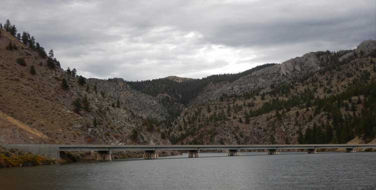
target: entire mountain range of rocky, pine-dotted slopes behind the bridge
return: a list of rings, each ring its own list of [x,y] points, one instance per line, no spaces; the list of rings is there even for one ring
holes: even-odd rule
[[[77,76],[0,31],[0,143],[346,143],[376,134],[375,40],[234,74],[126,81]]]

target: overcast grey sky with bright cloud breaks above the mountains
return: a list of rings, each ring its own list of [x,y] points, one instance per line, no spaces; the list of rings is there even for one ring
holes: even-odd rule
[[[85,77],[204,77],[376,38],[375,0],[2,0]]]

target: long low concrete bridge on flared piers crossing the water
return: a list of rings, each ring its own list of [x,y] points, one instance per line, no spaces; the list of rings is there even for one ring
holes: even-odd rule
[[[188,151],[188,157],[200,157],[200,150],[227,150],[229,156],[240,155],[241,150],[267,150],[269,155],[285,149],[304,149],[316,153],[320,149],[343,148],[355,152],[356,148],[376,148],[376,144],[234,144],[234,145],[105,145],[105,144],[0,144],[6,148],[60,158],[60,151],[97,151],[97,160],[111,160],[111,151],[144,151],[143,159],[157,159],[158,151]]]

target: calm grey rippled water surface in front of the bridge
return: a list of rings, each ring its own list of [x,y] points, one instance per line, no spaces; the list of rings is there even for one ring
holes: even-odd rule
[[[0,189],[376,189],[376,152],[201,153],[0,169]]]

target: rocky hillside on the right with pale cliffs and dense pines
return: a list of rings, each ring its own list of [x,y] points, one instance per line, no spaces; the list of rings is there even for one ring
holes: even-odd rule
[[[375,137],[375,47],[319,51],[208,85],[172,124],[176,143],[346,143]]]

